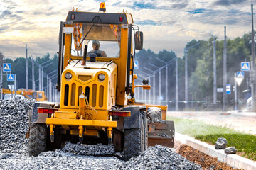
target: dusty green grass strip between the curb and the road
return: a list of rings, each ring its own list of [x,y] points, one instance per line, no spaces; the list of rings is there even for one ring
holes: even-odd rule
[[[218,137],[228,140],[227,147],[235,147],[238,154],[256,161],[256,135],[245,134],[228,127],[207,125],[200,120],[168,117],[173,120],[176,132],[195,137],[198,140],[215,145]]]

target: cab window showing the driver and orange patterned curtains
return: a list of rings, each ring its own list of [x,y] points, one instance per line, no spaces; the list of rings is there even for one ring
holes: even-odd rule
[[[88,45],[87,56],[95,53],[96,57],[119,57],[120,25],[74,23],[73,26],[71,55],[82,56],[85,45]],[[83,39],[84,41],[82,41]]]

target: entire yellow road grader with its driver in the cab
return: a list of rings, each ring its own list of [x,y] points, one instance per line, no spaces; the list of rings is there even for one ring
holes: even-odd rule
[[[64,147],[67,141],[114,145],[125,159],[141,154],[148,144],[173,147],[173,123],[152,123],[146,113],[151,106],[134,99],[134,87],[139,87],[134,86],[135,50],[142,50],[142,44],[132,14],[106,13],[105,3],[96,13],[68,12],[59,34],[60,103],[35,103],[29,155]],[[166,106],[159,108],[166,118]]]

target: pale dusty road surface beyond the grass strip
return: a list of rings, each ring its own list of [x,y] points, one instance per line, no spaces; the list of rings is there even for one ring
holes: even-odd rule
[[[169,111],[167,116],[202,120],[209,125],[220,125],[256,135],[256,113],[238,111]]]

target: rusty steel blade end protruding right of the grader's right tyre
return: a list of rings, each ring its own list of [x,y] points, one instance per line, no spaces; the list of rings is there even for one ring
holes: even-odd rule
[[[174,147],[174,121],[166,123],[150,123],[149,127],[149,146],[163,145]]]

